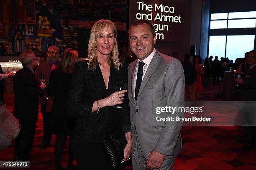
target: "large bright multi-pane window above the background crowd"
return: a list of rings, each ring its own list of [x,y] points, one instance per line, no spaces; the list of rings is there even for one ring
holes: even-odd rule
[[[208,56],[235,61],[256,44],[256,11],[212,13],[210,15]]]

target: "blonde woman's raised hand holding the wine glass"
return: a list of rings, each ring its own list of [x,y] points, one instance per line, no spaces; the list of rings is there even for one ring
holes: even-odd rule
[[[106,107],[106,106],[115,106],[117,104],[122,104],[126,92],[127,90],[121,90],[121,91],[116,91],[112,93],[110,96],[104,99],[103,106]]]

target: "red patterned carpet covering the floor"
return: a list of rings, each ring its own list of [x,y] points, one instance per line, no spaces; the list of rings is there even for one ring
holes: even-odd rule
[[[205,86],[200,93],[200,100],[223,100],[216,98],[223,86]],[[13,111],[13,95],[5,95],[8,109]],[[256,170],[256,150],[243,150],[243,145],[234,142],[241,136],[241,128],[234,126],[182,127],[183,150],[174,165],[174,170]],[[32,149],[32,158],[39,163],[31,166],[31,170],[54,169],[54,142],[51,147],[39,150],[43,136],[41,113],[36,127],[36,136]],[[13,160],[14,143],[0,152],[0,161]],[[90,154],[90,153],[88,153]],[[64,150],[61,165],[67,166],[67,149]],[[131,161],[127,162],[126,170],[132,170]],[[4,169],[4,168],[3,168]],[[6,168],[10,170],[11,168]],[[13,168],[17,170],[18,168]],[[25,169],[25,168],[22,168]]]

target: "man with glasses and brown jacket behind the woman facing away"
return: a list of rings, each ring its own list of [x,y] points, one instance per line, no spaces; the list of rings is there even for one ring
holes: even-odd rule
[[[36,72],[36,80],[38,84],[40,84],[40,79],[44,79],[46,85],[49,83],[49,77],[51,71],[55,69],[60,61],[59,61],[59,48],[57,46],[50,46],[47,51],[47,56],[49,57],[48,62],[40,63]],[[49,147],[51,144],[51,112],[46,112],[46,104],[47,104],[47,89],[44,90],[43,94],[40,96],[41,103],[41,113],[43,116],[43,129],[44,129],[44,137],[42,144],[39,146],[40,150],[44,150],[46,147]]]

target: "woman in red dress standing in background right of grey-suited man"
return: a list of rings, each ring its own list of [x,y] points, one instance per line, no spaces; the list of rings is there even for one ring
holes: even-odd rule
[[[200,56],[196,55],[193,58],[193,63],[195,64],[196,71],[197,71],[197,81],[196,81],[197,97],[196,97],[196,99],[198,100],[199,92],[202,91],[201,75],[204,74],[204,69],[203,69],[203,66],[202,66],[202,59],[201,59]]]

